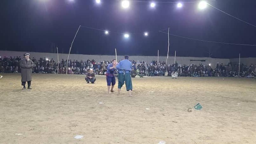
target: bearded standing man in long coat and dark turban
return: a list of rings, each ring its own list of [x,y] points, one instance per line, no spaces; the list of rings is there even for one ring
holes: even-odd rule
[[[32,68],[34,67],[34,62],[30,60],[30,54],[26,53],[24,54],[24,57],[20,61],[20,67],[21,67],[21,85],[23,85],[22,89],[26,89],[25,84],[28,82],[28,89],[30,88],[31,85],[31,80],[32,80]]]

